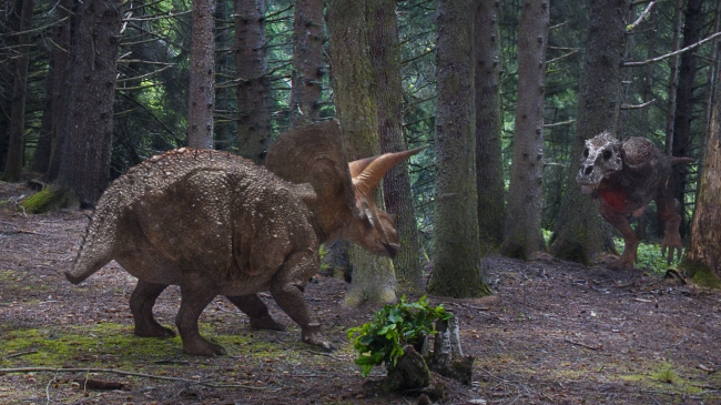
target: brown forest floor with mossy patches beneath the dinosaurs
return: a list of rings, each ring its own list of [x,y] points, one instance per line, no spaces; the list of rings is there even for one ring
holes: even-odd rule
[[[16,212],[30,192],[0,183],[0,404],[418,403],[382,395],[382,367],[360,376],[346,331],[377,306],[344,307],[346,284],[332,277],[305,292],[338,347],[332,354],[301,343],[268,294],[288,332],[252,331],[221,297],[205,310],[201,332],[226,356],[183,355],[179,337],[135,337],[135,281],[116,263],[77,286],[62,275],[88,212]],[[491,297],[429,297],[458,316],[463,350],[476,358],[470,386],[445,381],[444,404],[721,404],[720,292],[548,256],[490,256],[483,266]],[[174,327],[179,303],[175,287],[160,296],[161,323]]]

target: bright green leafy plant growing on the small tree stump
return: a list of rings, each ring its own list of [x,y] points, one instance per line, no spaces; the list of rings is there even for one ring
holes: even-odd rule
[[[430,307],[426,296],[409,303],[406,296],[394,305],[385,305],[373,314],[373,322],[348,330],[348,341],[358,351],[355,363],[363,368],[366,377],[373,366],[386,364],[393,368],[403,356],[403,346],[418,345],[428,334],[435,333],[436,320],[447,321],[453,315],[437,305]]]

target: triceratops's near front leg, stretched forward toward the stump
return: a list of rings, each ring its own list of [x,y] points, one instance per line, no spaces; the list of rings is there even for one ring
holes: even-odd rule
[[[332,351],[335,347],[321,335],[321,323],[308,311],[303,297],[308,277],[317,271],[317,253],[312,250],[292,253],[273,276],[271,293],[281,308],[301,325],[303,342]]]

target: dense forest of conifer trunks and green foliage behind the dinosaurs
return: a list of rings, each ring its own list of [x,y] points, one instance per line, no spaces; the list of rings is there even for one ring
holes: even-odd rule
[[[700,244],[681,265],[718,284],[719,231],[702,225],[721,220],[720,13],[710,0],[3,0],[0,168],[92,206],[159,152],[262,163],[277,134],[337,117],[349,159],[430,146],[385,179],[405,253],[352,250],[365,264],[346,300],[395,298],[368,293],[372,270],[402,291],[431,271],[430,292],[475,296],[490,292],[489,252],[617,252],[573,181],[582,141],[610,130],[697,159],[674,174],[681,234]],[[663,232],[653,210],[636,229]]]

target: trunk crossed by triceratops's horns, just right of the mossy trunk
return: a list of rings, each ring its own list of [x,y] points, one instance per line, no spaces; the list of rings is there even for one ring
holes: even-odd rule
[[[380,151],[399,152],[408,149],[403,134],[403,87],[400,83],[400,52],[396,22],[396,1],[376,0],[368,10],[373,22],[370,60],[377,82],[378,135]],[[403,292],[423,290],[420,267],[420,240],[416,227],[416,213],[410,194],[408,165],[403,163],[390,169],[383,178],[383,195],[386,211],[396,215],[400,236],[400,252],[393,264]]]

